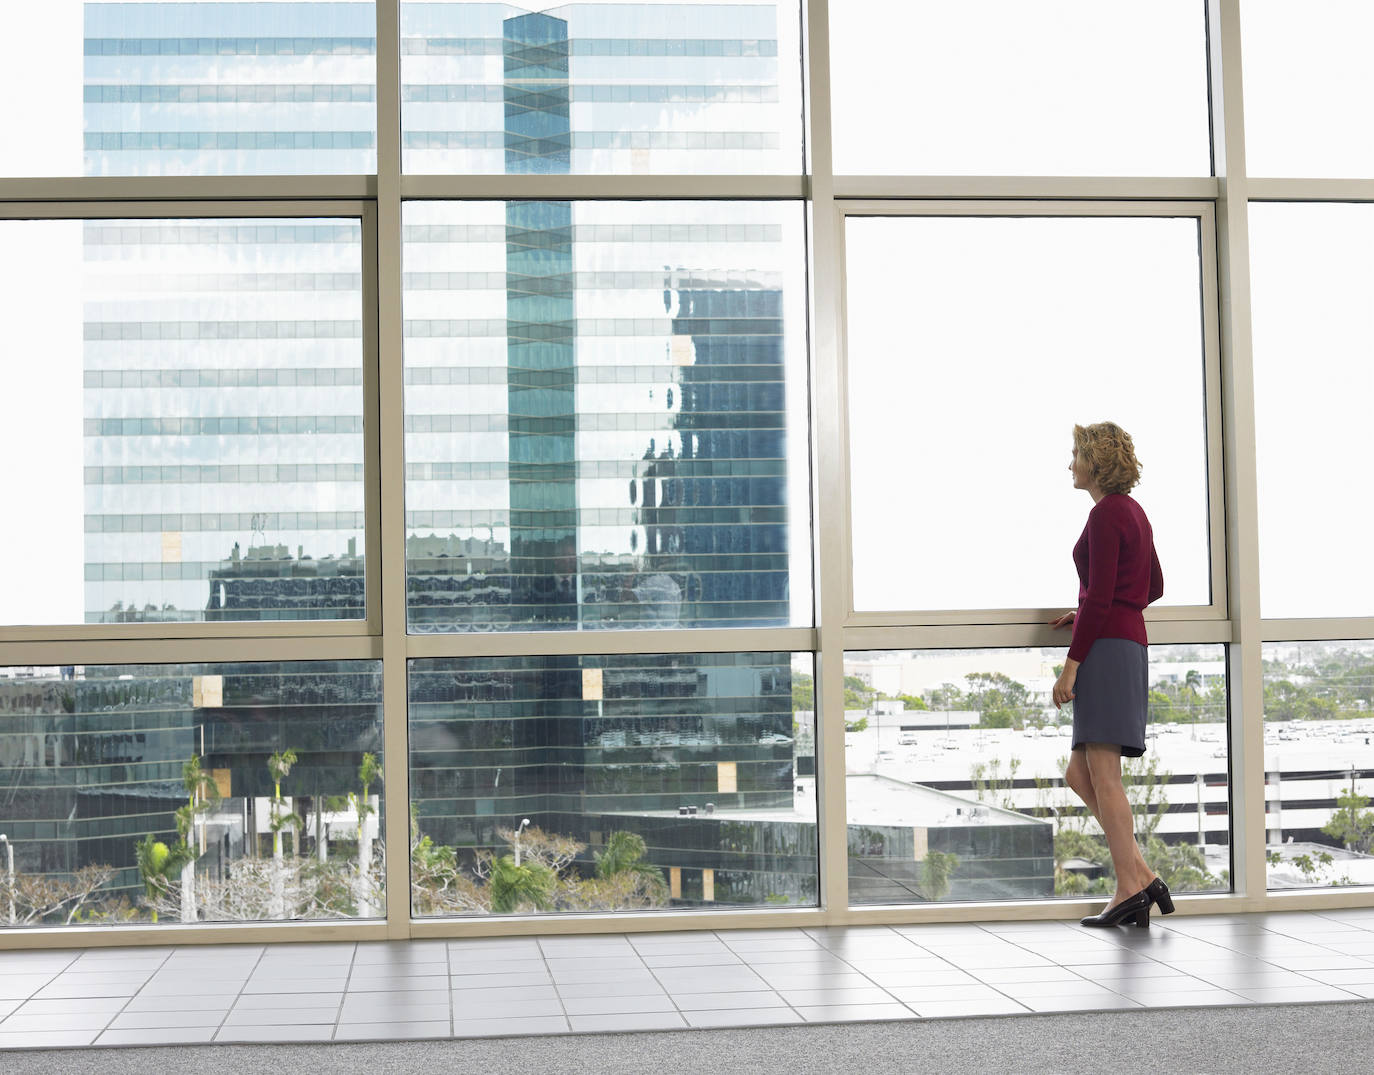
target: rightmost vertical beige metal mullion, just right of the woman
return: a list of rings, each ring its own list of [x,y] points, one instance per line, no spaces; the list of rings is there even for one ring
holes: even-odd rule
[[[1245,175],[1239,0],[1208,0],[1212,129],[1217,198],[1221,423],[1226,434],[1227,590],[1232,641],[1232,883],[1248,902],[1267,891],[1264,839],[1264,683],[1261,678],[1254,360]]]

